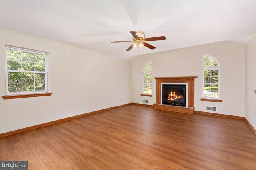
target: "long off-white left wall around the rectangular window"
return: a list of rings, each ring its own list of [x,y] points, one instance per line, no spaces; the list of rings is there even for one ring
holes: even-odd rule
[[[6,44],[49,52],[48,84],[53,94],[0,98],[0,133],[132,102],[131,61],[4,28],[0,28],[1,96]]]

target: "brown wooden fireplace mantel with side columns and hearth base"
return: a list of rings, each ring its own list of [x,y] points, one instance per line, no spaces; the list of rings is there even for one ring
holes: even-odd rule
[[[156,104],[155,109],[162,109],[168,111],[176,111],[182,113],[191,113],[194,114],[194,101],[195,101],[195,78],[197,76],[190,77],[154,77],[156,79]],[[188,83],[188,107],[166,107],[166,105],[161,104],[161,83]],[[168,108],[168,109],[166,109]],[[190,110],[188,110],[190,109]],[[192,109],[192,110],[191,110]]]

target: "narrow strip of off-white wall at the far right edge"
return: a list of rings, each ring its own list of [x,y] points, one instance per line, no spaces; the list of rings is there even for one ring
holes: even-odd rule
[[[245,117],[256,129],[256,35],[245,48]]]

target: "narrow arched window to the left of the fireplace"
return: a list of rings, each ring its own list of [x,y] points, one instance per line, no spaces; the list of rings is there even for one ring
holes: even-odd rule
[[[142,94],[152,94],[151,91],[151,61],[145,64],[142,71]]]

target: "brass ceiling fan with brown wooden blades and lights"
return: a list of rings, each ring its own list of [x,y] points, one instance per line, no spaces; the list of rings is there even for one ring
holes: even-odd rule
[[[145,38],[145,33],[143,31],[130,31],[130,33],[133,36],[132,41],[113,41],[111,43],[124,43],[124,42],[133,42],[133,44],[126,50],[129,51],[132,48],[142,48],[143,46],[148,47],[149,49],[155,49],[156,47],[146,43],[147,41],[157,41],[157,40],[165,40],[166,38],[164,36],[162,37],[151,37],[151,38]]]

